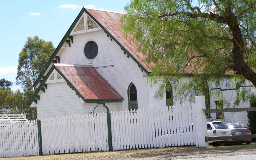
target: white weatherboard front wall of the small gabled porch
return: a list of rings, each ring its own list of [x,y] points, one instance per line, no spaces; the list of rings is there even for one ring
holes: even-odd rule
[[[83,113],[83,104],[66,82],[48,83],[45,93],[40,91],[37,101],[37,118],[48,118]]]

